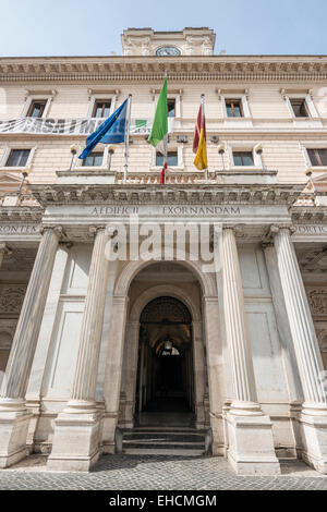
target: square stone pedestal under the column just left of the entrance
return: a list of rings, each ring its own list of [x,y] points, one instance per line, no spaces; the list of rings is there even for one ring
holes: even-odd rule
[[[95,407],[68,407],[55,420],[49,471],[88,472],[100,455],[100,417]]]

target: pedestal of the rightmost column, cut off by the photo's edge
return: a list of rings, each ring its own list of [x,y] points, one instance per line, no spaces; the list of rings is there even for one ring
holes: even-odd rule
[[[327,474],[327,409],[304,404],[300,416],[302,459],[324,475]]]

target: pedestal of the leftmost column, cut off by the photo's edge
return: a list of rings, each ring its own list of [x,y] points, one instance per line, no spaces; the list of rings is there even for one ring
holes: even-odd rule
[[[0,467],[9,467],[28,455],[26,439],[32,414],[22,400],[0,401]]]

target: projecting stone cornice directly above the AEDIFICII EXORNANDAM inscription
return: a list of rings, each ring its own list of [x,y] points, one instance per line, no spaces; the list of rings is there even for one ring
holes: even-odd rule
[[[302,185],[31,185],[43,206],[62,205],[283,205],[292,206]]]

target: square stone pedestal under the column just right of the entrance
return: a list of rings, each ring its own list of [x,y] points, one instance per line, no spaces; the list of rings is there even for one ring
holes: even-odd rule
[[[275,453],[272,424],[269,416],[232,412],[226,415],[228,426],[228,460],[239,475],[279,475]]]

